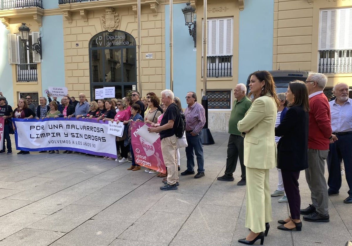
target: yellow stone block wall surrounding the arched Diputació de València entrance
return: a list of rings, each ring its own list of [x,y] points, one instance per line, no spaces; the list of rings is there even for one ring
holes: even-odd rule
[[[99,7],[99,2],[95,4]],[[137,42],[137,15],[132,11],[132,6],[115,8],[115,12],[120,18],[117,29],[130,33]],[[89,11],[88,22],[84,22],[79,12],[73,12],[71,24],[63,16],[65,85],[70,95],[85,93],[90,100],[89,40],[95,34],[105,31],[101,23],[104,13],[104,9]],[[158,6],[157,16],[153,16],[148,5],[142,5],[141,13],[142,95],[149,91],[158,95],[165,89],[165,26],[162,21],[165,18],[164,6]],[[146,53],[153,53],[153,59],[146,60]]]

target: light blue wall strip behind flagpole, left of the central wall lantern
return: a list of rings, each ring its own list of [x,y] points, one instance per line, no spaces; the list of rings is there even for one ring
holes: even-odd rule
[[[185,108],[186,94],[196,91],[196,51],[181,11],[186,4],[174,4],[174,94]],[[165,5],[165,86],[170,89],[170,21],[169,5]],[[200,71],[199,71],[200,72]],[[200,96],[200,95],[199,95]]]

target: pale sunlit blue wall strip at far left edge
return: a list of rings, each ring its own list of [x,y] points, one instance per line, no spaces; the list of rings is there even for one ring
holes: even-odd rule
[[[5,25],[0,23],[0,91],[6,97],[8,104],[12,106],[13,104],[13,89],[12,89],[12,68],[8,64],[8,41],[7,34],[9,31],[6,29]]]

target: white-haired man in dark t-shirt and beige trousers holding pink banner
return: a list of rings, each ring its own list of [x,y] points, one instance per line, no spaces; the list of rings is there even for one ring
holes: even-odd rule
[[[161,92],[161,101],[168,108],[166,109],[163,118],[158,127],[149,127],[149,132],[160,133],[161,151],[165,166],[168,168],[168,178],[164,186],[160,187],[162,191],[177,190],[178,169],[176,155],[176,135],[178,120],[180,118],[180,109],[174,103],[174,93],[168,89]]]

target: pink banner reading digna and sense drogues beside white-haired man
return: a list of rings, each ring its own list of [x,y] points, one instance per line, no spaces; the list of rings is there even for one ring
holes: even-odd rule
[[[145,135],[145,125],[150,127],[149,124],[144,122],[131,121],[131,144],[133,148],[134,160],[136,164],[156,170],[161,173],[166,173],[166,167],[163,160],[163,154],[161,152],[160,136],[155,140],[152,133],[147,133],[147,136],[142,138],[141,135]],[[141,132],[139,135],[138,131],[140,128]],[[144,134],[142,134],[142,131]],[[148,136],[150,134],[150,136]],[[149,139],[147,141],[145,138]],[[154,139],[154,140],[150,140]]]

